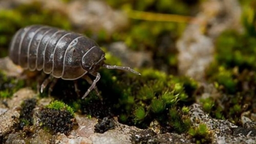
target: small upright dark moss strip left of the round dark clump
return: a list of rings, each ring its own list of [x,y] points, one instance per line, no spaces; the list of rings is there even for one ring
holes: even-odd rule
[[[33,109],[37,105],[37,100],[34,98],[26,99],[21,103],[20,123],[19,128],[33,125]]]

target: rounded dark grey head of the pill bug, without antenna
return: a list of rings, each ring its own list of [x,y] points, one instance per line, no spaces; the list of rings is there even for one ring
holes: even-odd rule
[[[82,57],[81,64],[83,69],[89,73],[96,72],[104,63],[105,53],[100,47],[94,46],[89,49]]]

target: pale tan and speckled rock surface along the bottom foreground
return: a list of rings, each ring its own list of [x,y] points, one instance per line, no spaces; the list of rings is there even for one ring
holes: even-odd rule
[[[35,96],[35,93],[29,89],[24,88],[15,93],[13,100],[6,100],[10,106],[7,111],[0,114],[0,137],[6,138],[6,144],[30,142],[32,144],[193,144],[191,138],[187,135],[180,135],[177,133],[155,133],[151,129],[139,129],[118,123],[116,120],[115,127],[105,133],[95,133],[95,125],[97,119],[88,118],[80,114],[75,114],[78,128],[71,131],[69,135],[57,133],[52,135],[43,129],[33,127],[33,135],[29,138],[22,137],[21,132],[16,132],[16,124],[19,118],[19,103],[26,98]],[[37,108],[34,109],[36,114],[39,106],[46,105],[49,101],[44,98],[38,102]],[[48,101],[48,102],[46,102]],[[15,105],[16,104],[16,105]],[[213,144],[255,144],[256,130],[255,128],[245,126],[238,127],[227,120],[217,120],[211,118],[207,113],[203,112],[199,104],[193,104],[190,115],[191,122],[194,126],[198,123],[205,123],[213,132]],[[34,116],[36,117],[36,116]],[[35,119],[36,120],[36,119]],[[245,123],[250,123],[247,120]]]

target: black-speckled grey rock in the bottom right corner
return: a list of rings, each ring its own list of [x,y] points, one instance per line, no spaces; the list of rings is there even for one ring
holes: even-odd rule
[[[193,104],[191,107],[191,121],[193,125],[205,123],[213,132],[213,144],[255,144],[256,129],[238,127],[228,120],[211,118],[203,112],[202,107]]]

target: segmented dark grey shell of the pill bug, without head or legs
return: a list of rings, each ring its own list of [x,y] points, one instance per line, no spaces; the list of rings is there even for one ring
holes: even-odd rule
[[[75,80],[85,75],[81,59],[93,40],[75,32],[55,27],[32,25],[16,32],[9,47],[9,57],[23,69],[43,70],[56,78]]]

